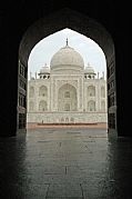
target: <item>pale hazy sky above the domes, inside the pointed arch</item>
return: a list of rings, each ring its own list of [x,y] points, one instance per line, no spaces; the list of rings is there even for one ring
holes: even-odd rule
[[[94,68],[95,72],[106,71],[105,56],[102,49],[91,39],[83,34],[80,34],[71,29],[63,29],[58,31],[35,44],[29,57],[29,69],[34,77],[35,72],[39,72],[41,67],[45,63],[50,66],[50,60],[52,56],[62,47],[65,46],[67,38],[69,40],[69,46],[74,48],[84,60],[84,66],[88,62]]]

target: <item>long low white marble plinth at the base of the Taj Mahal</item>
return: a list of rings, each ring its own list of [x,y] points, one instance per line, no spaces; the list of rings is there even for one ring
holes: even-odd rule
[[[40,113],[28,113],[28,122],[42,122],[43,123],[95,123],[106,122],[108,115],[101,112],[40,112]],[[63,120],[62,120],[63,119]],[[73,121],[71,121],[73,119]]]

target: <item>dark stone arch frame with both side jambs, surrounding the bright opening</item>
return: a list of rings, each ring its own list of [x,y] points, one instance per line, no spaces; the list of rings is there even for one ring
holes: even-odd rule
[[[62,29],[72,29],[94,40],[103,50],[106,59],[108,76],[108,130],[116,132],[116,90],[115,90],[115,53],[114,43],[105,28],[95,20],[70,9],[62,9],[34,22],[24,33],[19,48],[19,81],[28,83],[28,59],[33,47],[43,38]],[[113,88],[110,87],[114,81]],[[19,83],[18,83],[19,84]],[[24,87],[27,89],[27,87]],[[26,92],[18,86],[18,99]],[[27,103],[19,106],[18,101],[18,129],[26,129]],[[20,125],[21,123],[21,125]]]

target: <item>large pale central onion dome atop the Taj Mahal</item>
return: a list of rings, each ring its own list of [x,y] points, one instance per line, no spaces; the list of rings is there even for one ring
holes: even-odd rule
[[[83,58],[73,48],[67,46],[61,48],[51,59],[51,70],[83,70]]]

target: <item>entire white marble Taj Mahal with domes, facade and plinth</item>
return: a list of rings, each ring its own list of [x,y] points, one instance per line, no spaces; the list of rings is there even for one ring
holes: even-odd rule
[[[106,122],[106,80],[69,46],[53,54],[28,82],[27,121],[33,123]]]

